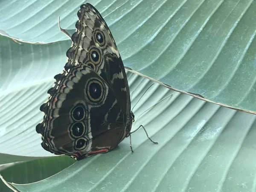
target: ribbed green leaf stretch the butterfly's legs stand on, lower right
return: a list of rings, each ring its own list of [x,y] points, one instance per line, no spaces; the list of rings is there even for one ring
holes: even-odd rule
[[[151,82],[131,73],[128,73],[128,80],[131,91],[134,91],[134,105]],[[172,97],[140,116],[149,106],[169,94]],[[134,114],[140,117],[133,129],[143,124],[158,145],[152,144],[141,129],[132,134],[133,154],[127,138],[115,150],[78,161],[52,177],[12,186],[21,192],[247,192],[255,188],[255,115],[172,92],[160,85],[154,85],[145,93],[134,108]],[[33,133],[28,134],[31,137],[28,140],[32,141]],[[38,145],[38,150],[40,148]],[[23,166],[20,164],[19,169],[6,169],[4,178],[12,177],[7,181],[19,183],[35,181],[36,172],[21,172],[17,177],[10,174],[24,167],[33,172],[44,165],[45,174],[40,176],[38,171],[37,175],[42,179],[50,176],[49,172],[55,172],[54,166],[51,166],[58,162],[55,157],[51,161],[47,158],[40,160],[40,163],[37,161],[24,163]]]

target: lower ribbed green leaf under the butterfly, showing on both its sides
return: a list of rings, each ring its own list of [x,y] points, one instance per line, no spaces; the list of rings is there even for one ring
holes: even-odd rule
[[[35,125],[42,119],[39,106],[47,99],[51,77],[62,70],[65,62],[62,49],[69,45],[61,42],[20,46],[6,37],[0,40],[0,46],[6,48],[1,52],[1,58],[6,58],[3,63],[9,61],[9,65],[1,65],[6,73],[2,73],[0,79],[4,82],[0,98],[0,152],[6,154],[0,154],[5,157],[0,161],[34,160],[1,173],[9,182],[30,183],[37,174],[33,170],[42,165],[45,174],[38,171],[37,180],[61,170],[50,166],[58,163],[58,157],[50,161],[48,158],[35,160],[38,156],[53,155],[41,147]],[[127,74],[134,106],[152,82]],[[155,105],[170,94],[172,97]],[[132,129],[143,124],[158,145],[146,138],[143,129],[138,130],[132,135],[134,154],[131,154],[129,139],[125,139],[115,150],[76,162],[40,182],[12,185],[20,191],[33,192],[206,189],[236,192],[255,187],[255,115],[204,102],[159,84],[145,93],[134,114],[137,122]],[[24,159],[13,154],[31,157]],[[25,167],[27,173],[21,171]],[[15,174],[14,170],[24,175]]]

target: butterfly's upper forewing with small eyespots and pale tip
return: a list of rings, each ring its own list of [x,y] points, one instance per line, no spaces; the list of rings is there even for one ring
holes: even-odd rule
[[[67,51],[66,67],[85,64],[93,68],[113,89],[116,99],[130,116],[131,101],[127,77],[113,36],[102,16],[89,3],[81,5]]]

